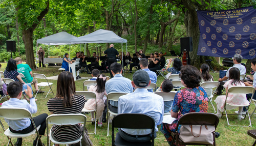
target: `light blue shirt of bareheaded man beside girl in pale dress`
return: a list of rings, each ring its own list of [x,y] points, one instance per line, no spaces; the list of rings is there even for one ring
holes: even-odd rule
[[[106,94],[109,93],[132,93],[133,85],[130,79],[123,77],[121,74],[115,74],[115,76],[106,81],[105,84]],[[118,106],[117,101],[110,101],[112,106]]]

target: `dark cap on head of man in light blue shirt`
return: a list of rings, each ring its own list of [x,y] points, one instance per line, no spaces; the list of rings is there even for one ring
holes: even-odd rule
[[[144,70],[138,70],[133,74],[133,82],[139,87],[145,87],[150,83],[150,76]]]

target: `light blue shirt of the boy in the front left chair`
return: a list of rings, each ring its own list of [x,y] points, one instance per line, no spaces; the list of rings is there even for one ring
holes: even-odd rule
[[[16,108],[27,108],[32,114],[36,113],[37,106],[35,103],[35,98],[30,98],[30,104],[27,102],[27,100],[19,100],[17,98],[10,98],[10,100],[5,101],[2,104],[2,107],[16,107]],[[24,118],[20,120],[8,120],[5,119],[8,126],[11,127],[15,131],[23,130],[25,128],[28,128],[31,124],[31,121],[29,118]]]

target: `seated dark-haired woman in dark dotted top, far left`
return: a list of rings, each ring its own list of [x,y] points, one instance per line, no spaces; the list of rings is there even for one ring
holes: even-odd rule
[[[30,88],[32,89],[32,86],[30,83],[26,84],[23,80],[22,77],[20,77],[20,75],[17,72],[17,65],[16,65],[16,61],[13,59],[10,59],[7,63],[5,72],[4,72],[4,77],[5,78],[10,78],[13,79],[14,81],[19,81],[23,84],[23,90],[27,89],[27,85],[30,86]],[[38,89],[38,88],[37,88]],[[32,91],[33,94],[33,91]],[[29,100],[26,96],[25,98],[27,100]]]

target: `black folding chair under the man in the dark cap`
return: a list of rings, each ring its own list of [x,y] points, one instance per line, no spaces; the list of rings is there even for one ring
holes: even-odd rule
[[[146,142],[128,142],[121,138],[119,133],[116,134],[114,128],[126,128],[126,129],[152,129],[152,141]],[[142,113],[121,113],[115,116],[112,121],[112,145],[154,145],[155,139],[155,121],[151,116]]]

